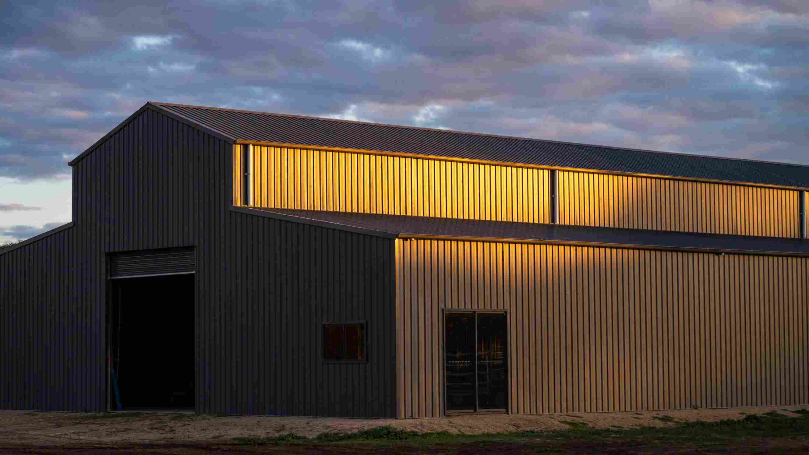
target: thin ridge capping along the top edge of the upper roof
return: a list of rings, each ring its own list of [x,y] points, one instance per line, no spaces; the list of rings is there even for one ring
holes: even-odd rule
[[[324,120],[324,121],[335,121],[340,123],[349,123],[349,124],[356,124],[356,125],[375,125],[375,126],[387,126],[391,128],[406,128],[409,130],[421,130],[421,131],[435,131],[440,133],[451,133],[451,134],[471,134],[474,136],[481,136],[486,138],[503,138],[503,139],[516,139],[522,141],[534,141],[534,142],[545,142],[545,143],[556,143],[556,144],[565,144],[565,145],[573,145],[573,146],[586,146],[586,147],[600,147],[600,148],[607,148],[611,150],[618,150],[618,151],[642,151],[645,153],[650,154],[660,154],[660,155],[680,155],[680,156],[687,156],[687,157],[698,157],[698,158],[710,158],[710,159],[726,159],[730,161],[740,161],[743,163],[765,163],[765,164],[777,164],[781,166],[798,166],[801,168],[809,168],[809,164],[795,164],[795,163],[782,163],[778,161],[765,161],[763,159],[750,159],[750,158],[734,158],[731,156],[715,156],[715,155],[701,155],[697,153],[688,153],[683,151],[659,151],[659,150],[650,150],[644,148],[633,148],[633,147],[618,147],[618,146],[609,146],[604,144],[591,144],[587,142],[569,142],[569,141],[558,141],[555,139],[541,139],[541,138],[525,138],[521,136],[508,136],[505,134],[489,134],[489,133],[476,133],[474,131],[460,131],[460,130],[443,130],[440,128],[426,128],[424,126],[412,126],[412,125],[396,125],[392,123],[377,123],[374,121],[356,121],[356,120],[344,120],[341,118],[331,118],[331,117],[315,117],[315,116],[307,116],[307,115],[299,115],[299,114],[288,114],[288,113],[268,113],[263,111],[252,111],[248,109],[234,109],[234,108],[217,108],[214,106],[201,106],[197,104],[179,104],[179,103],[161,103],[159,101],[147,101],[149,104],[155,104],[158,106],[176,106],[180,108],[199,108],[199,109],[209,109],[214,111],[226,111],[226,112],[234,112],[234,113],[249,113],[249,114],[256,114],[256,115],[266,115],[271,117],[294,117],[294,118],[303,118],[303,119],[311,119],[311,120]],[[198,122],[196,122],[198,123]],[[238,138],[234,138],[239,140]],[[772,172],[770,172],[772,173]],[[777,175],[777,174],[773,174]],[[780,176],[781,178],[787,178]],[[791,180],[787,178],[787,180]]]

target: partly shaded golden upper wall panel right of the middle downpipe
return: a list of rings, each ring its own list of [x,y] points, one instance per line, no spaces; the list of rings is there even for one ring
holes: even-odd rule
[[[788,189],[559,172],[559,223],[608,228],[798,237]]]

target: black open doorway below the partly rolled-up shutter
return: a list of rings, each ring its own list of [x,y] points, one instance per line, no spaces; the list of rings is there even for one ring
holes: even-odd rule
[[[109,409],[193,409],[194,275],[109,283]]]

